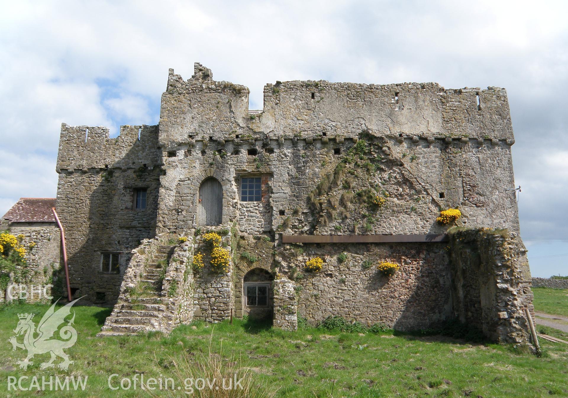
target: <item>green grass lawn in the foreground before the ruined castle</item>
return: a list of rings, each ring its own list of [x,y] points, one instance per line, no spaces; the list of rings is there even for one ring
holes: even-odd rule
[[[31,304],[1,307],[0,338],[7,341],[14,335],[18,313],[36,312],[37,324],[47,308]],[[0,346],[0,396],[149,396],[140,389],[112,391],[107,386],[108,376],[132,378],[140,372],[146,378],[173,375],[173,361],[184,352],[197,359],[209,352],[210,345],[218,358],[235,355],[242,362],[239,366],[252,370],[259,382],[278,388],[278,397],[568,396],[568,345],[547,341],[541,341],[544,357],[537,358],[510,346],[470,344],[446,337],[393,335],[392,331],[359,335],[315,328],[283,332],[237,320],[233,325],[183,325],[169,336],[150,333],[98,338],[95,334],[110,310],[74,309],[78,339],[66,350],[74,361],[69,375],[88,375],[85,391],[7,391],[8,376],[65,372],[39,369],[40,363],[49,359],[48,354],[34,358],[34,366],[27,371],[19,370],[15,362],[26,353],[22,349],[12,351],[6,342]],[[21,336],[18,341],[22,341]],[[182,380],[177,385],[183,385]],[[190,396],[182,392],[176,392],[176,396]]]

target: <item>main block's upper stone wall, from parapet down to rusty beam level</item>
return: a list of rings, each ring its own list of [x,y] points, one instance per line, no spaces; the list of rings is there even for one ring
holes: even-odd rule
[[[456,206],[466,227],[519,230],[515,194],[506,190],[514,186],[514,138],[501,88],[294,81],[268,84],[261,113],[249,114],[246,104],[246,87],[214,81],[199,64],[187,81],[170,70],[158,140],[159,230],[197,225],[199,184],[210,176],[223,185],[223,223],[239,219],[250,234],[279,226],[439,233],[438,211]],[[368,150],[349,155],[362,139]],[[261,204],[239,200],[240,177],[252,175],[264,177]],[[320,189],[328,176],[336,179],[331,189]],[[307,198],[316,187],[314,208]],[[343,193],[365,189],[389,195],[380,217],[338,208]]]

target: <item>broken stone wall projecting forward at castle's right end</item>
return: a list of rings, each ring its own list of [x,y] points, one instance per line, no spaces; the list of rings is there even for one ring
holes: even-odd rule
[[[507,230],[457,231],[451,235],[453,312],[491,340],[529,341],[524,308],[534,314],[527,249]]]

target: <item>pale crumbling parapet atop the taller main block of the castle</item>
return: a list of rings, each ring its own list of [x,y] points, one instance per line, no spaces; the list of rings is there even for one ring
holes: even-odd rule
[[[211,70],[199,63],[187,81],[170,69],[160,145],[242,137],[352,138],[361,130],[383,137],[513,140],[507,92],[499,87],[276,82],[264,87],[264,107],[258,111],[249,111],[248,96],[247,87],[214,81]]]

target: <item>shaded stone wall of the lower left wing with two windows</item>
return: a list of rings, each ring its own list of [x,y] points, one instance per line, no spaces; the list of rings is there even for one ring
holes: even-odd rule
[[[70,284],[85,303],[114,303],[132,249],[156,236],[157,136],[157,126],[123,126],[119,137],[108,138],[105,128],[62,125],[56,208],[66,230]],[[136,210],[140,188],[147,189],[147,208]],[[101,272],[103,252],[120,253],[119,274]]]

